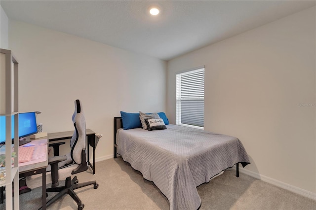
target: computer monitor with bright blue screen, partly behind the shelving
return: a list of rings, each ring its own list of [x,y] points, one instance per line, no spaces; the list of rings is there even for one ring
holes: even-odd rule
[[[0,144],[5,143],[5,116],[0,116]],[[38,133],[35,112],[19,113],[19,139]],[[14,139],[14,116],[11,116],[11,139]]]

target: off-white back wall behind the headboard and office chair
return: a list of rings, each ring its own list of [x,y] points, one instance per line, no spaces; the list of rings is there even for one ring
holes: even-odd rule
[[[86,127],[103,134],[99,160],[113,157],[119,111],[165,111],[164,61],[13,20],[9,37],[19,61],[19,111],[41,111],[44,132],[69,131],[80,99]]]

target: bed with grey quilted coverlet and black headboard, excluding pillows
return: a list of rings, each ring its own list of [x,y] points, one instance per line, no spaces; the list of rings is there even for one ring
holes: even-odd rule
[[[114,150],[143,177],[153,181],[167,197],[170,210],[197,210],[201,200],[197,186],[239,163],[248,155],[235,137],[184,126],[166,125],[164,130],[122,129],[114,118]]]

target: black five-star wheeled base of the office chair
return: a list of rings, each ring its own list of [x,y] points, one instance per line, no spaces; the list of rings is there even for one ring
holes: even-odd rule
[[[79,199],[79,197],[77,196],[77,194],[75,193],[74,190],[78,189],[78,188],[81,188],[81,187],[85,187],[85,186],[91,185],[91,184],[93,184],[93,188],[94,189],[97,189],[98,186],[99,186],[96,181],[88,181],[88,182],[78,183],[77,176],[75,176],[73,179],[71,179],[70,176],[67,177],[65,186],[46,189],[46,192],[59,192],[57,195],[55,195],[52,199],[50,199],[46,203],[46,207],[48,207],[49,205],[54,203],[56,200],[58,200],[59,198],[61,198],[65,194],[68,194],[78,204],[78,210],[82,210],[83,207],[84,207],[84,204],[81,203],[81,200]],[[41,209],[42,209],[42,207],[40,208],[40,210]]]

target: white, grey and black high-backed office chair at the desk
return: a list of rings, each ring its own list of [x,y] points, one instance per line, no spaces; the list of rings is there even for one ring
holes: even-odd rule
[[[65,194],[69,194],[77,202],[78,210],[82,210],[84,208],[84,204],[81,203],[81,200],[79,199],[77,194],[74,192],[74,190],[91,185],[91,184],[93,184],[94,189],[97,189],[99,186],[96,183],[96,181],[78,183],[77,176],[75,176],[73,179],[71,179],[71,176],[69,176],[70,171],[71,171],[71,174],[74,175],[74,174],[86,171],[88,169],[87,160],[86,160],[86,148],[85,148],[86,147],[85,119],[82,112],[82,105],[79,100],[75,101],[75,112],[72,116],[72,119],[74,122],[75,131],[70,141],[71,152],[70,152],[70,155],[68,155],[68,157],[70,156],[70,158],[68,158],[70,159],[70,161],[67,160],[67,155],[54,156],[48,159],[48,164],[50,165],[50,168],[51,168],[51,179],[46,178],[46,180],[52,181],[52,188],[46,189],[46,192],[59,192],[59,193],[46,203],[46,207],[51,205],[53,202],[55,202],[56,200],[58,200]],[[63,143],[64,142],[61,142],[61,144]],[[58,144],[59,143],[53,144],[54,154],[58,153],[57,152],[58,147],[59,147]],[[69,162],[74,163],[74,164],[69,164]],[[66,164],[66,166],[61,167],[61,165],[63,165],[61,163]],[[65,171],[67,171],[68,173],[67,172],[65,173]],[[47,174],[48,173],[46,173],[46,175]],[[67,174],[68,176],[66,178],[65,186],[58,187],[59,175],[65,175],[65,174]],[[32,189],[35,187],[39,187],[38,186],[39,182],[41,182],[39,177],[37,175],[34,175],[34,176],[28,176],[26,183],[27,183],[27,186]]]

